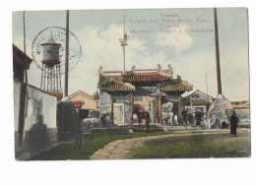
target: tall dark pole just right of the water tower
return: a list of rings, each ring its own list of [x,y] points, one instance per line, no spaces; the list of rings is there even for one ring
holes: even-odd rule
[[[69,10],[66,11],[66,54],[65,54],[65,93],[68,96],[69,84]]]

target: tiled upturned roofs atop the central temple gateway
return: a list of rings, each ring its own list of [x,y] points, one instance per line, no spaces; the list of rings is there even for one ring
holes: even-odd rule
[[[193,86],[181,80],[172,79],[168,70],[145,69],[126,71],[99,71],[98,88],[106,93],[130,93],[140,87],[157,87],[164,93],[185,93]]]

